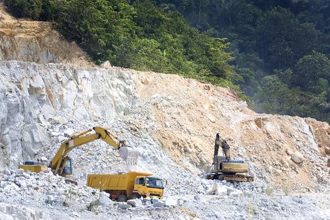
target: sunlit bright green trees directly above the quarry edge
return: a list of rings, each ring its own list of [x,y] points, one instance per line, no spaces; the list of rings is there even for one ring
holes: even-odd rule
[[[181,13],[156,8],[151,1],[4,0],[17,17],[54,22],[97,64],[176,73],[216,85],[232,83],[233,58],[225,39],[190,27]]]

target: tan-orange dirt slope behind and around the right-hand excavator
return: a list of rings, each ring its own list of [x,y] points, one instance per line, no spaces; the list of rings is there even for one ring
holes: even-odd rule
[[[209,167],[214,138],[220,133],[233,155],[248,159],[253,174],[263,182],[297,191],[329,182],[322,157],[329,147],[329,124],[257,114],[230,89],[177,75],[134,72],[134,76],[142,102],[152,105],[156,115],[158,129],[151,135],[188,170]],[[291,159],[297,152],[304,157],[302,163]]]

